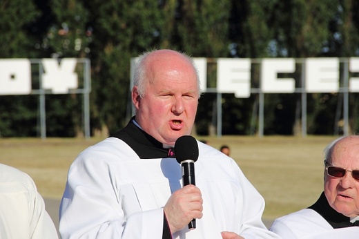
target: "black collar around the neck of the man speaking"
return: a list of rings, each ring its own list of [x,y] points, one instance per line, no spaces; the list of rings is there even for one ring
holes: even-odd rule
[[[142,159],[175,157],[173,149],[164,149],[163,144],[137,127],[132,117],[127,126],[110,137],[117,137],[130,146]]]

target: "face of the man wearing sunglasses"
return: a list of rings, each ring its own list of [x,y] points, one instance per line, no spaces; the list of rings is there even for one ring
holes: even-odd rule
[[[359,216],[359,181],[352,170],[359,170],[359,136],[340,140],[333,151],[331,165],[347,169],[342,178],[324,173],[324,193],[331,207],[348,217]]]

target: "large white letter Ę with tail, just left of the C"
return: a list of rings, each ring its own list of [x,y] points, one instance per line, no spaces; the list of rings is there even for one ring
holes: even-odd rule
[[[217,59],[217,90],[237,98],[251,95],[251,59]]]

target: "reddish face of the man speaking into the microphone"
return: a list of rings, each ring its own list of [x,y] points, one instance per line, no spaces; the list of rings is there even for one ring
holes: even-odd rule
[[[199,98],[195,69],[177,52],[159,51],[151,57],[145,95],[134,100],[136,121],[159,142],[174,145],[178,137],[191,134],[195,121]]]

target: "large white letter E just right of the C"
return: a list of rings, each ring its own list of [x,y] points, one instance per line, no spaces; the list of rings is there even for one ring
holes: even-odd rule
[[[305,70],[305,88],[308,93],[338,92],[338,58],[307,58]]]

